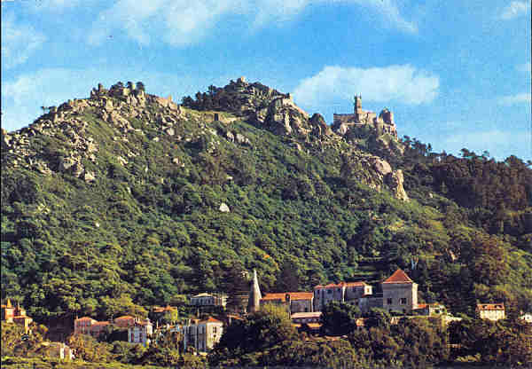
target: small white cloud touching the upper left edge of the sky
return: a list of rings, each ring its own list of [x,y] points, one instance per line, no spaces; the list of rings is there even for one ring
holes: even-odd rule
[[[2,12],[2,68],[23,64],[46,41],[27,24],[18,24],[12,13]]]

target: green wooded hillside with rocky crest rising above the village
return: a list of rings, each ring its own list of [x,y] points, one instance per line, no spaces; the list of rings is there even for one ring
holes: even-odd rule
[[[275,291],[401,267],[455,313],[532,309],[530,163],[342,137],[260,83],[184,103],[119,83],[3,130],[3,299],[104,318],[241,269]]]

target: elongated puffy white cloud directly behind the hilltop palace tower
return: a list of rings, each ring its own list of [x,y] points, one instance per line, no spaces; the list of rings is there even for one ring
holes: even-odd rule
[[[324,67],[317,75],[302,80],[293,90],[303,106],[323,106],[350,100],[356,93],[365,101],[401,101],[418,105],[438,95],[440,80],[410,65],[390,67]]]

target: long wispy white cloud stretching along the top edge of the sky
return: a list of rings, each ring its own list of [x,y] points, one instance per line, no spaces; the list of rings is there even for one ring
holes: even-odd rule
[[[88,41],[99,44],[113,32],[124,32],[141,44],[161,38],[173,46],[184,46],[197,43],[223,16],[239,14],[244,22],[262,27],[290,20],[311,4],[330,2],[371,7],[394,27],[417,32],[413,23],[403,19],[394,0],[120,0],[99,13]]]

